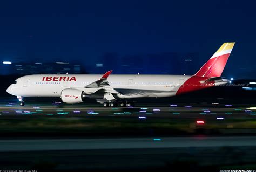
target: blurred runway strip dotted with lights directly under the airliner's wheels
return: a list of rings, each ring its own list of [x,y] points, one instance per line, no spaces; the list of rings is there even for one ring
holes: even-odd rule
[[[28,104],[19,106],[17,103],[0,104],[0,116],[153,116],[179,118],[195,118],[198,116],[221,118],[229,116],[256,116],[253,105],[230,104],[140,104],[137,107],[102,107],[100,104],[68,105],[61,102],[53,104]]]

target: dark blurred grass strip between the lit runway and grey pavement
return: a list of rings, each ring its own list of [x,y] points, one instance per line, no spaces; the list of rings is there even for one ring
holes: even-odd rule
[[[131,117],[43,117],[28,116],[28,118],[13,118],[0,121],[1,133],[83,133],[86,134],[190,134],[198,129],[214,130],[221,133],[220,129],[256,129],[255,119],[207,119],[203,125],[198,125],[194,119],[182,118],[147,118],[138,119]],[[253,130],[254,131],[254,130]]]

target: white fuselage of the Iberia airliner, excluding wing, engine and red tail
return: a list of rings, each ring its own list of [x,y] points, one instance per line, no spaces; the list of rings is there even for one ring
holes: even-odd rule
[[[60,97],[66,88],[86,91],[86,85],[97,81],[99,74],[35,74],[18,78],[7,92],[21,97]],[[75,77],[75,78],[74,78]],[[129,75],[111,74],[109,85],[123,98],[171,97],[191,78],[185,75]]]

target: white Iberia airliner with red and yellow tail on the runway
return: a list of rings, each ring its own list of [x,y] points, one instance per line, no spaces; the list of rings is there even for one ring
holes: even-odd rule
[[[76,104],[96,99],[104,107],[130,107],[133,98],[172,97],[204,88],[226,84],[221,73],[235,43],[224,43],[191,76],[151,74],[33,74],[18,78],[7,92],[16,95],[24,106],[24,97],[60,97]]]

